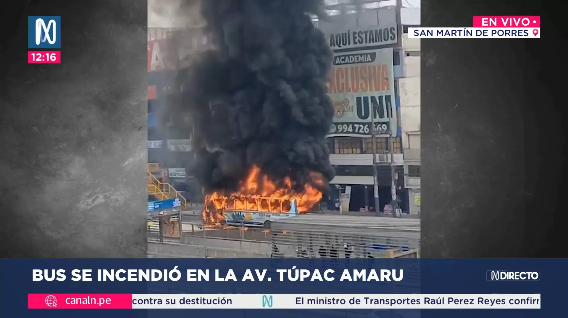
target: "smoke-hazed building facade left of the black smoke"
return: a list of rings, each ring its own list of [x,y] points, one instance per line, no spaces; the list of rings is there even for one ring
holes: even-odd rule
[[[169,41],[180,32],[187,41]],[[168,103],[169,96],[180,89],[176,77],[185,66],[183,57],[206,46],[199,28],[148,28],[148,163],[157,163],[162,181],[194,202],[202,201],[202,192],[191,176],[195,162],[191,116],[182,110],[172,112],[176,108]]]

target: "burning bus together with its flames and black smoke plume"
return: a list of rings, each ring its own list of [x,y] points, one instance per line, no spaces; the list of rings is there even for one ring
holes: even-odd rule
[[[335,176],[325,139],[335,113],[333,52],[312,22],[322,4],[201,2],[208,49],[184,60],[163,112],[189,114],[193,170],[208,194],[204,225],[266,226],[313,211]],[[181,33],[171,43],[174,56],[176,45],[190,44]]]

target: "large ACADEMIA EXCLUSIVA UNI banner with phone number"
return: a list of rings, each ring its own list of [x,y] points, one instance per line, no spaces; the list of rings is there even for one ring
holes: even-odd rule
[[[335,53],[328,91],[335,115],[328,137],[396,136],[392,48]]]

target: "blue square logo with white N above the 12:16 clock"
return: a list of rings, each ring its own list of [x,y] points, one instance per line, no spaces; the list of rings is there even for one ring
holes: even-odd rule
[[[28,48],[60,49],[61,16],[28,15]]]

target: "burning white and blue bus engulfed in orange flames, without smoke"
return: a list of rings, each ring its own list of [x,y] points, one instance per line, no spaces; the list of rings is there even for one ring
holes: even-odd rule
[[[322,181],[314,173],[312,182],[320,185]],[[214,192],[205,197],[203,224],[270,227],[274,219],[313,210],[322,197],[321,191],[310,184],[304,185],[302,192],[295,192],[288,179],[277,187],[268,176],[261,175],[260,168],[253,166],[237,192]]]

